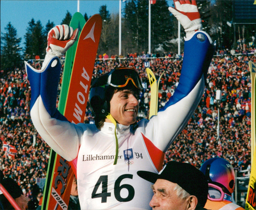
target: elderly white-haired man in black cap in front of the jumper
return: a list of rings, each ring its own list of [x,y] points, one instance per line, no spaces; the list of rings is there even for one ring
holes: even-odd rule
[[[167,162],[159,174],[138,171],[137,174],[154,183],[152,209],[204,209],[208,184],[204,174],[189,163]]]

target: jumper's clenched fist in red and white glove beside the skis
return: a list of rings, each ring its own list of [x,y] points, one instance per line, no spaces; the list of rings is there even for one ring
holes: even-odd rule
[[[78,36],[78,28],[74,30],[68,25],[53,27],[47,36],[46,52],[62,57],[65,52],[75,43]]]

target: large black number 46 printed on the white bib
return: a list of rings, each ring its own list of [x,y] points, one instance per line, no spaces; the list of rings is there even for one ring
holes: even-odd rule
[[[121,184],[121,181],[125,178],[132,179],[132,174],[124,174],[119,176],[116,179],[115,186],[114,186],[114,195],[117,201],[119,202],[128,202],[133,199],[134,197],[134,188],[130,184]],[[102,184],[102,191],[101,193],[96,193],[98,191],[98,188]],[[126,198],[121,197],[121,190],[126,189],[128,190],[128,196]],[[111,192],[108,192],[108,175],[100,176],[97,183],[94,186],[94,189],[92,191],[92,199],[93,198],[100,198],[101,197],[101,203],[106,203],[107,198],[111,196]]]

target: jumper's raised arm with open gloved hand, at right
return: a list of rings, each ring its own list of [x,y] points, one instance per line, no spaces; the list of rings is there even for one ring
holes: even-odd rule
[[[146,127],[146,134],[150,133],[154,144],[164,152],[186,126],[201,100],[204,74],[215,49],[209,35],[200,30],[202,24],[196,2],[174,1],[174,4],[175,8],[169,7],[169,10],[186,31],[180,81],[172,97]]]

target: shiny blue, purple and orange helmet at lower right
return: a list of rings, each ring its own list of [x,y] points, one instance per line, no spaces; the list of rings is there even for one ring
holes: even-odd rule
[[[207,176],[209,184],[220,187],[224,193],[232,194],[235,172],[230,162],[220,157],[211,158],[202,164],[200,170]]]

